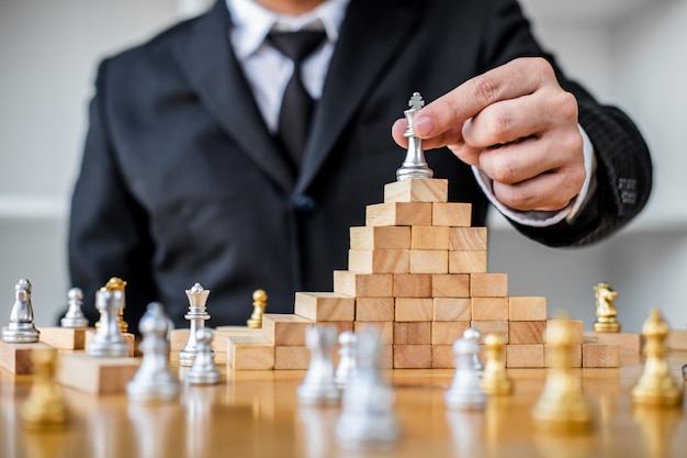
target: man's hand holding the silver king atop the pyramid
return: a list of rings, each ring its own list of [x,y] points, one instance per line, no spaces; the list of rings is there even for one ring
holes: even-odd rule
[[[518,58],[474,77],[415,115],[425,149],[447,146],[494,181],[504,204],[522,211],[565,208],[585,180],[577,101],[543,58]],[[406,147],[407,122],[392,135]]]

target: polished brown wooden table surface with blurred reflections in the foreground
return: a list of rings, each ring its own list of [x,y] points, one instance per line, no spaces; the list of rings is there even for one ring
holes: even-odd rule
[[[682,383],[687,353],[671,355]],[[443,394],[452,370],[388,370],[402,435],[390,449],[337,444],[340,406],[302,406],[305,371],[233,371],[213,387],[182,387],[178,401],[129,402],[60,388],[71,414],[61,432],[22,427],[31,376],[0,369],[0,457],[687,457],[685,409],[638,407],[630,389],[643,366],[623,357],[619,369],[574,369],[593,412],[589,433],[536,428],[531,409],[545,369],[509,369],[515,393],[483,411],[452,411]]]

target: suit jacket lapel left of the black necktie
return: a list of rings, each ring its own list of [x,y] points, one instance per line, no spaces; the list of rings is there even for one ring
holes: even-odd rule
[[[201,18],[178,58],[207,110],[258,167],[291,192],[294,176],[271,138],[229,44],[230,21],[224,1]]]

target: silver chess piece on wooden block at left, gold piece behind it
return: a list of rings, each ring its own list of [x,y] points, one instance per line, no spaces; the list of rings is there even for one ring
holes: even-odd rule
[[[117,313],[124,304],[124,292],[101,288],[95,292],[99,326],[86,351],[89,356],[126,357],[128,344],[117,325]]]

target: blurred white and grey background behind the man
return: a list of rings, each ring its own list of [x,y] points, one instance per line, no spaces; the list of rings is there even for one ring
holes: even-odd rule
[[[599,281],[618,291],[623,331],[639,332],[652,306],[686,328],[687,0],[521,3],[563,69],[637,122],[653,154],[655,183],[637,221],[586,248],[542,247],[493,211],[489,271],[509,275],[510,295],[545,295],[550,313],[565,309],[586,329]],[[9,322],[20,278],[33,284],[36,324],[53,325],[67,302],[69,199],[98,62],[209,4],[0,0],[0,326]],[[251,301],[246,298],[247,308]]]

